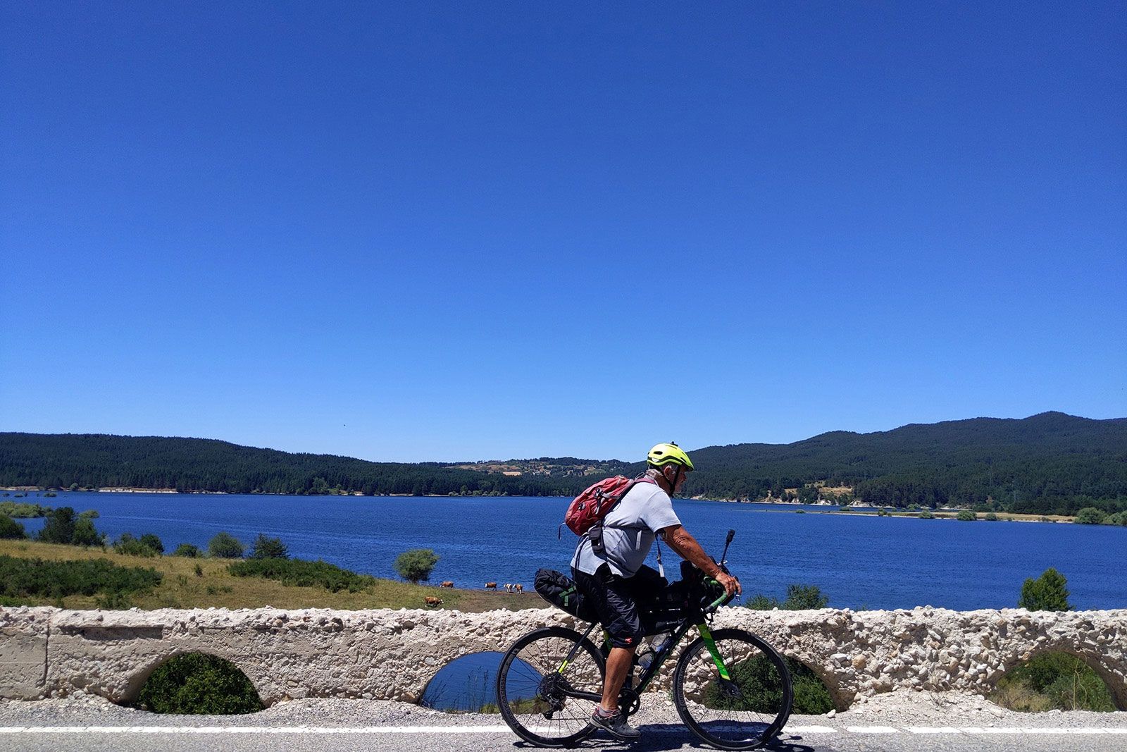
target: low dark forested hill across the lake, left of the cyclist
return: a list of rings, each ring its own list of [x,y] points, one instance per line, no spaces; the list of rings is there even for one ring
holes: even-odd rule
[[[437,463],[369,462],[210,439],[0,433],[0,486],[175,488],[230,494],[545,496],[576,481]]]

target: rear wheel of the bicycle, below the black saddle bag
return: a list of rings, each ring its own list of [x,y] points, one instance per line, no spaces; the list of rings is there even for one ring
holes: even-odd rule
[[[579,652],[564,666],[576,643]],[[564,666],[562,671],[560,667]],[[583,635],[564,627],[529,632],[497,670],[497,707],[508,727],[538,746],[569,746],[588,736],[606,662]],[[586,698],[571,693],[584,692]]]

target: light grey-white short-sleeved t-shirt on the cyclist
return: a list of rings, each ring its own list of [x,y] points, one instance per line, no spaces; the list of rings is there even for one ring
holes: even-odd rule
[[[591,538],[585,534],[575,549],[571,566],[595,574],[605,563],[614,574],[632,577],[646,561],[657,532],[678,524],[681,520],[673,511],[669,495],[657,484],[639,483],[603,519],[605,554],[595,554]]]

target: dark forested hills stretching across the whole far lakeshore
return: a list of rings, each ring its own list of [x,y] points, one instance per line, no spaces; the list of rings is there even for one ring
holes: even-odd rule
[[[867,434],[834,431],[791,444],[706,446],[691,454],[698,471],[684,495],[707,498],[781,498],[796,488],[810,498],[817,484],[894,506],[1041,514],[1127,508],[1127,418],[970,418]],[[540,496],[574,495],[600,477],[642,469],[641,462],[571,457],[370,462],[207,439],[0,433],[0,486]]]

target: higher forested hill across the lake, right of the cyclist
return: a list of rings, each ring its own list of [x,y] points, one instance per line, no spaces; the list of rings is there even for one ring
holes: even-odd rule
[[[793,444],[692,452],[685,493],[757,498],[810,481],[850,486],[867,504],[983,505],[1033,513],[1127,508],[1127,418],[1042,413],[894,431],[824,433]]]

